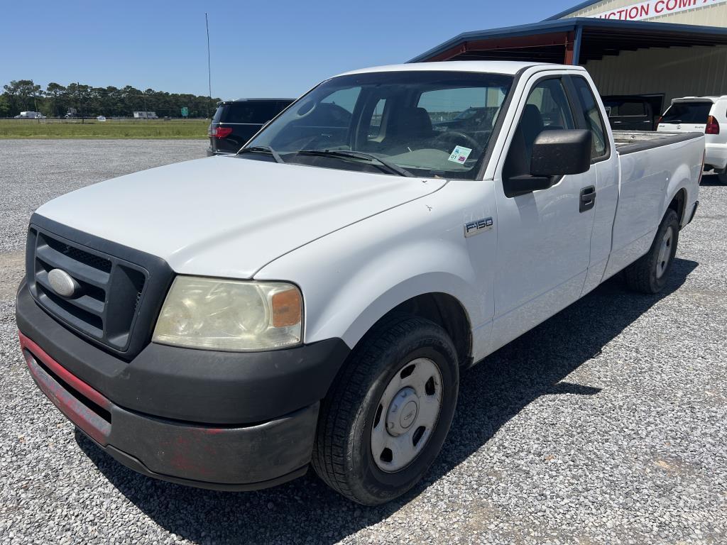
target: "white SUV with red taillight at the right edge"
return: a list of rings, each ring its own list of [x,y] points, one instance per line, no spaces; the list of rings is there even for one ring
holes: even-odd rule
[[[727,184],[727,95],[675,98],[659,118],[657,130],[704,132],[704,168]]]

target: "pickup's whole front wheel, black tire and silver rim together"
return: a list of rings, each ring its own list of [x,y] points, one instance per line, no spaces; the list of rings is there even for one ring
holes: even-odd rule
[[[427,472],[449,432],[459,366],[440,326],[398,316],[356,347],[321,403],[313,467],[364,505],[401,496]]]

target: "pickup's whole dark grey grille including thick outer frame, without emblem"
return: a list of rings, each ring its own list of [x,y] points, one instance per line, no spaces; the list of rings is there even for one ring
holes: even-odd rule
[[[62,296],[52,287],[48,275],[54,269],[71,276],[73,294]],[[52,318],[132,360],[150,342],[174,272],[161,257],[33,214],[25,279],[33,299]]]

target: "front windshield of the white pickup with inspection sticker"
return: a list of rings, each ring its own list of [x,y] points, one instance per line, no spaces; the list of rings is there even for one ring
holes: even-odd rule
[[[239,157],[276,160],[267,149],[285,163],[474,179],[512,83],[512,76],[452,71],[339,76],[246,146],[260,153]]]

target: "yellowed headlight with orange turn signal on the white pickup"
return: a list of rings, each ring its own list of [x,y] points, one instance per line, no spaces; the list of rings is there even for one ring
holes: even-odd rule
[[[292,284],[177,276],[153,341],[207,350],[270,350],[301,342],[302,296]]]

